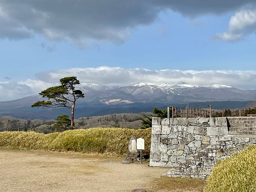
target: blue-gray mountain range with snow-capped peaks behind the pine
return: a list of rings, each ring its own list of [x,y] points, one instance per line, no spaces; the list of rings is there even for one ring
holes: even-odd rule
[[[136,83],[129,86],[102,86],[81,83],[77,85],[85,97],[76,102],[75,118],[84,116],[108,115],[114,113],[152,112],[152,107],[166,106],[243,108],[254,100],[256,90],[244,90],[229,85],[192,85],[186,82]],[[38,100],[46,100],[41,95],[32,95],[17,100],[0,102],[0,116],[13,116],[24,119],[55,119],[58,115],[69,114],[67,108],[56,110],[31,108]]]

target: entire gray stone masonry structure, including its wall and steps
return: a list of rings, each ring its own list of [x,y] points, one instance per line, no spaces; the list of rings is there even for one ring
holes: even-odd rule
[[[163,176],[205,179],[216,162],[256,143],[253,132],[230,134],[237,123],[256,128],[256,117],[153,117],[149,165],[173,167]]]

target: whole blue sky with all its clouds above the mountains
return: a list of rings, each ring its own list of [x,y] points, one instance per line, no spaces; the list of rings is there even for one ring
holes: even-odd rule
[[[0,101],[81,83],[256,89],[254,0],[0,0]]]

